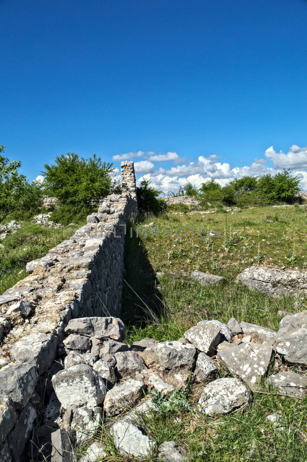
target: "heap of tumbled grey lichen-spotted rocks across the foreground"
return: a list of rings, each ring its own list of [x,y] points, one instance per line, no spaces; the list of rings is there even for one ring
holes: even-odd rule
[[[142,339],[128,345],[125,334],[123,322],[114,317],[68,322],[44,385],[46,407],[29,447],[36,460],[73,461],[76,455],[86,462],[113,460],[112,446],[99,440],[102,431],[108,432],[127,461],[151,456],[161,462],[192,461],[194,455],[174,441],[157,444],[140,424],[150,415],[159,415],[157,396],[200,383],[199,395],[190,406],[214,417],[250,406],[264,380],[277,395],[302,399],[307,390],[307,377],[299,372],[307,366],[306,310],[284,316],[277,332],[232,318],[227,324],[200,321],[174,341]],[[269,366],[276,359],[279,370],[271,374]],[[14,407],[25,406],[38,386],[34,367],[31,382],[29,375],[29,383],[23,382],[26,367],[31,366],[16,365],[15,376],[5,384],[1,381],[1,395],[9,391],[13,396],[9,401],[2,398],[2,440],[15,423]],[[226,370],[232,377],[222,377]],[[3,367],[0,375],[5,374]],[[300,431],[295,426],[289,429],[279,412],[266,418],[277,432]]]

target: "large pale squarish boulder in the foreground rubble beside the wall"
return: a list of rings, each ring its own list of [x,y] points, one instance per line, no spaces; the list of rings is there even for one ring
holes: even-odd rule
[[[52,384],[61,405],[96,407],[104,401],[104,380],[88,364],[68,367],[52,377]]]

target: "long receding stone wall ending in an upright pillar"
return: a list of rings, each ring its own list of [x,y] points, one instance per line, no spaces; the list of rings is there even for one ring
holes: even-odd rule
[[[137,213],[133,162],[121,168],[123,193],[107,196],[86,225],[29,262],[29,276],[0,296],[1,461],[18,461],[31,436],[69,320],[121,312],[124,224]]]

